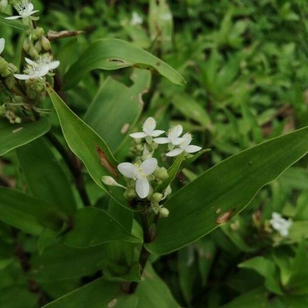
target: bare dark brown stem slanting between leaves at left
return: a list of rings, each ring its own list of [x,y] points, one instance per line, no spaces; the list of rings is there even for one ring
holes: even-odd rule
[[[89,196],[86,191],[85,182],[82,176],[82,169],[81,169],[78,159],[72,152],[66,150],[66,148],[54,136],[54,134],[51,131],[46,133],[46,137],[50,141],[50,143],[57,149],[57,151],[61,154],[65,163],[70,169],[72,176],[74,178],[74,181],[75,181],[76,188],[79,192],[79,195],[84,205],[90,206],[91,202],[90,202]]]

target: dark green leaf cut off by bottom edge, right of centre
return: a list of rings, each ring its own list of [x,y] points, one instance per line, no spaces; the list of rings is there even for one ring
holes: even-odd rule
[[[270,307],[268,300],[268,293],[264,288],[256,288],[254,290],[248,291],[240,296],[236,297],[227,304],[221,306],[220,308],[260,308],[260,307]]]

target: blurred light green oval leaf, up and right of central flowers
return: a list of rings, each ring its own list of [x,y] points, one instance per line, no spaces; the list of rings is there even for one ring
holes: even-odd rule
[[[189,95],[185,93],[175,94],[171,98],[171,103],[184,115],[184,117],[194,120],[208,129],[211,128],[211,122],[207,112]]]

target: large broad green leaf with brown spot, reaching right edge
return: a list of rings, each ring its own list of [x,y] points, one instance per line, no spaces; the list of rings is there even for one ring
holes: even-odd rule
[[[242,211],[261,187],[307,152],[305,127],[244,150],[205,171],[167,200],[170,215],[159,221],[157,237],[146,244],[147,249],[167,254],[211,232]],[[177,236],[172,230],[177,230]]]

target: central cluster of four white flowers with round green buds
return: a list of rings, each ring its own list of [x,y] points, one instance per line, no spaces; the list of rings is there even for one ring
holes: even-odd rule
[[[153,153],[161,144],[168,144],[166,156],[174,157],[185,152],[185,156],[201,150],[201,147],[190,145],[192,140],[190,133],[182,137],[183,127],[176,125],[166,132],[166,137],[159,137],[165,133],[164,130],[156,129],[156,121],[152,117],[143,123],[142,131],[131,133],[129,136],[134,139],[132,152],[135,160],[133,163],[125,162],[118,165],[118,170],[126,179],[126,186],[119,184],[111,177],[103,177],[105,185],[118,186],[125,189],[124,196],[128,199],[147,198],[153,213],[160,216],[168,216],[168,210],[160,204],[171,194],[169,185],[163,191],[159,190],[160,184],[169,178],[165,167],[160,167],[158,160],[153,158]],[[145,143],[142,139],[145,138]]]

